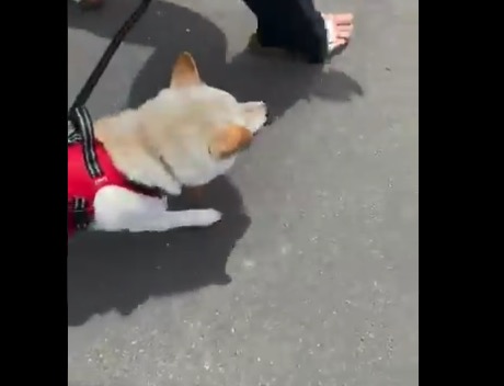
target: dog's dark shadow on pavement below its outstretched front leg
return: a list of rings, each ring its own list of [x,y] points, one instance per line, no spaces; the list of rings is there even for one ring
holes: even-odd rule
[[[140,235],[82,232],[71,240],[68,325],[82,325],[113,309],[129,315],[149,297],[228,284],[227,259],[250,219],[226,178],[205,186],[204,201],[224,214],[220,223],[208,228]],[[186,207],[181,200],[170,206]]]

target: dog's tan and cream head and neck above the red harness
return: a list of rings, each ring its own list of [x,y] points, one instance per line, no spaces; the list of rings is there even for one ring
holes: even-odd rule
[[[239,103],[205,84],[183,53],[170,87],[137,110],[95,122],[95,133],[128,178],[179,194],[225,173],[266,121],[262,102]]]

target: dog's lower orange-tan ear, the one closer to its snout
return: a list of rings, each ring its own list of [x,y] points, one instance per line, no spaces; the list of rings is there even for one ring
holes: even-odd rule
[[[208,151],[214,158],[226,159],[249,147],[252,143],[252,133],[242,126],[231,125],[210,140]]]

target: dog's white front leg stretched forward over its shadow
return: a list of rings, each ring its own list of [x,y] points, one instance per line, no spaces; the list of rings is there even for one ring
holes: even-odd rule
[[[119,186],[105,186],[94,198],[93,229],[107,231],[164,231],[179,227],[206,227],[221,217],[215,209],[167,212],[161,198]]]

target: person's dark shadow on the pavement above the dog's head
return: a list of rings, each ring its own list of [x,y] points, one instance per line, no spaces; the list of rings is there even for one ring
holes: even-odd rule
[[[95,12],[69,7],[68,25],[111,38],[140,1],[107,0]],[[244,4],[243,12],[249,12]],[[140,105],[168,86],[171,67],[184,50],[193,54],[205,82],[225,89],[240,101],[266,102],[274,117],[311,96],[348,102],[364,94],[357,81],[340,71],[324,71],[322,66],[257,56],[247,49],[227,61],[227,39],[217,25],[193,10],[165,1],[153,0],[125,42],[153,48],[134,80],[129,107]]]

